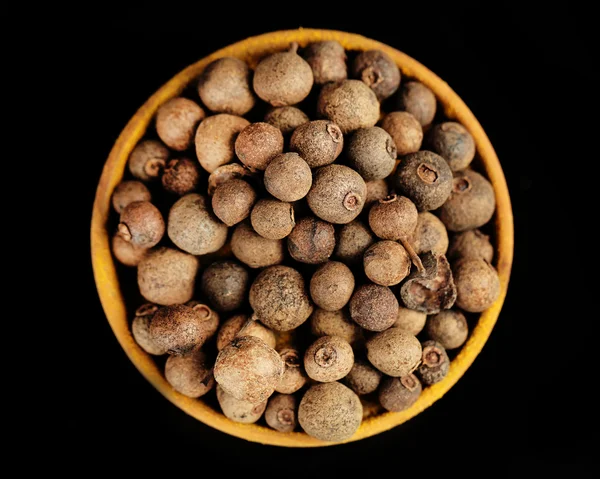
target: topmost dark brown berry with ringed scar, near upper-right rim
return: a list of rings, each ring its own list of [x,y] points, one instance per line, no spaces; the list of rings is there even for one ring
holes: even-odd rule
[[[371,88],[379,101],[392,96],[400,86],[400,70],[390,56],[381,50],[359,53],[352,64],[352,76]]]

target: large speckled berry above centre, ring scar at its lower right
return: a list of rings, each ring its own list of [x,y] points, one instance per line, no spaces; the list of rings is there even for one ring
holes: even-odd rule
[[[324,221],[349,223],[363,209],[367,185],[353,169],[343,165],[319,168],[306,196],[312,212]]]

